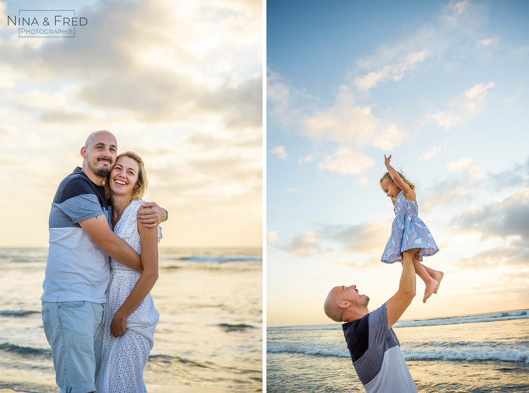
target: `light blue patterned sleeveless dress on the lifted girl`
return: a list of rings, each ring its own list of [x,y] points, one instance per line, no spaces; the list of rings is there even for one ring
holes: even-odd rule
[[[417,202],[404,198],[400,191],[395,199],[395,220],[391,226],[391,237],[386,244],[382,262],[393,264],[401,261],[401,253],[411,248],[420,248],[419,261],[422,257],[429,257],[439,251],[428,227],[417,216],[419,207]]]

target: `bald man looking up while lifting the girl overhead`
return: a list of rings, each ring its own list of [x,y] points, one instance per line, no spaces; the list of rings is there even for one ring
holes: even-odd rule
[[[360,295],[355,285],[335,286],[325,300],[327,317],[345,322],[342,328],[347,348],[368,393],[417,392],[391,328],[415,297],[413,257],[416,252],[417,249],[403,253],[399,289],[377,310],[369,312],[369,297]]]

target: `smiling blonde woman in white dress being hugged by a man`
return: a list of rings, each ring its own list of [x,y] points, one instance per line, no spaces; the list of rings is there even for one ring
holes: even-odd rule
[[[138,273],[110,259],[105,331],[97,392],[143,393],[143,368],[154,345],[159,314],[150,290],[158,279],[160,226],[146,228],[136,220],[145,203],[147,173],[143,160],[132,151],[120,154],[104,182],[112,200],[112,229],[141,255],[143,272]]]

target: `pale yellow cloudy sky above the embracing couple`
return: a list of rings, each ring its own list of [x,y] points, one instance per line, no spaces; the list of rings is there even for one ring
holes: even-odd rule
[[[73,38],[7,15],[72,10]],[[98,129],[147,167],[160,246],[262,244],[262,2],[0,1],[0,246],[48,246],[59,182]]]

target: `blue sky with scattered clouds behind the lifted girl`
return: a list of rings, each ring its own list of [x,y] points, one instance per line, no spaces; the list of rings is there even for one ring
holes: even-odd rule
[[[400,265],[384,154],[416,185],[446,275],[404,318],[529,306],[529,2],[267,2],[267,321],[380,306]],[[295,307],[292,299],[300,300]]]

